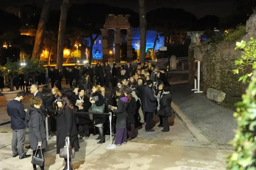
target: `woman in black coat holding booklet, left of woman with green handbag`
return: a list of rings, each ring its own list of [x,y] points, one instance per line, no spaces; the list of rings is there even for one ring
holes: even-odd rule
[[[74,106],[75,106],[76,112],[88,112],[91,107],[89,97],[84,95],[84,91],[85,91],[84,89],[78,89],[78,95],[74,99]],[[76,105],[77,100],[84,101],[82,106],[77,106],[78,104]],[[75,117],[77,120],[76,124],[78,124],[78,130],[80,135],[79,139],[83,139],[84,136],[85,138],[88,139],[90,135],[89,126],[92,124],[90,115],[76,113]]]

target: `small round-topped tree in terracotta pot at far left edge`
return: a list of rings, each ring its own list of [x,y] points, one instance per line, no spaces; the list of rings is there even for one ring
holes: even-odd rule
[[[5,100],[10,101],[16,97],[17,93],[22,90],[14,90],[13,80],[21,72],[20,64],[18,62],[12,62],[7,60],[7,63],[4,66],[1,66],[1,74],[10,79],[10,90],[3,91]]]

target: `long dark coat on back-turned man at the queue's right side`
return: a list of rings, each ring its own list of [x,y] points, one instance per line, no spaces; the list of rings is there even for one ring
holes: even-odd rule
[[[144,87],[144,97],[143,97],[143,111],[144,112],[154,112],[156,110],[157,97],[154,96],[153,90],[146,85]]]

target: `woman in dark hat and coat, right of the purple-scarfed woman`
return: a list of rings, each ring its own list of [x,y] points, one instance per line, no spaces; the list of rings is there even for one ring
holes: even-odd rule
[[[137,109],[136,100],[132,97],[132,90],[125,89],[124,95],[127,97],[128,100],[128,107],[127,107],[127,132],[128,132],[128,141],[131,141],[135,138],[135,112]]]

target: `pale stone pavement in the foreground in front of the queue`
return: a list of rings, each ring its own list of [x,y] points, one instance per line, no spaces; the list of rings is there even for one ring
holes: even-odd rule
[[[8,128],[9,129],[9,128]],[[12,158],[10,130],[0,128],[0,170],[32,169],[31,157]],[[7,133],[1,133],[1,132]],[[62,170],[63,158],[56,155],[56,139],[49,142],[46,150],[45,169]],[[28,135],[26,142],[28,143]],[[80,150],[72,159],[74,169],[87,170],[224,170],[226,156],[231,151],[219,146],[190,141],[154,140],[137,138],[113,150],[107,150],[109,140],[97,144],[95,136],[80,140]],[[27,150],[25,150],[27,151]],[[31,150],[27,151],[32,154]]]

